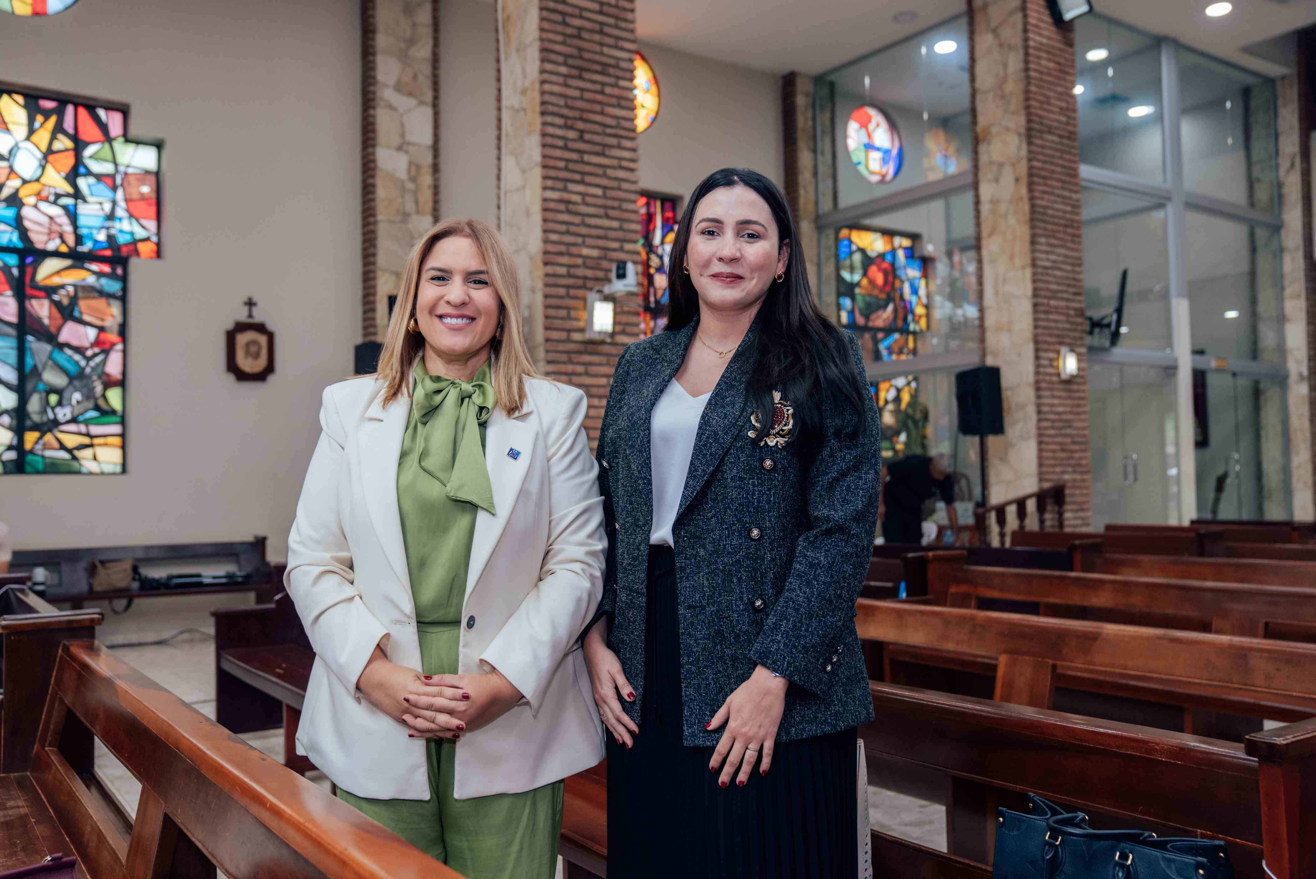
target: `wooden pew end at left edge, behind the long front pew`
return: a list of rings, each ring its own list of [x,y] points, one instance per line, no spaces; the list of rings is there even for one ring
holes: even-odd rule
[[[59,611],[25,587],[0,592],[0,774],[28,771],[59,645],[95,638],[103,618],[100,611]],[[91,740],[80,746],[89,749]]]

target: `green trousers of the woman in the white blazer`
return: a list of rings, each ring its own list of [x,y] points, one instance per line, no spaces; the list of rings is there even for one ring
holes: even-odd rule
[[[461,625],[418,624],[426,675],[457,672]],[[562,782],[524,793],[453,797],[461,742],[429,740],[428,800],[367,800],[338,788],[338,799],[467,879],[553,879],[562,833]]]

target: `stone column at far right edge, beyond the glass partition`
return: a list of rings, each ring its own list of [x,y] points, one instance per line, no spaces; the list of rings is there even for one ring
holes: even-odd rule
[[[1283,229],[1284,359],[1288,368],[1288,462],[1294,518],[1316,518],[1313,436],[1316,405],[1316,264],[1312,254],[1311,66],[1316,63],[1313,34],[1299,34],[1298,72],[1278,83],[1279,187]]]

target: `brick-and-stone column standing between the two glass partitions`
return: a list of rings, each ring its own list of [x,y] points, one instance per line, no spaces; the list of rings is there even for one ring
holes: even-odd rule
[[[983,355],[1001,370],[1005,436],[988,440],[988,503],[1066,483],[1065,524],[1088,525],[1087,336],[1074,37],[1045,0],[971,0]],[[1079,375],[1061,380],[1062,346]]]

